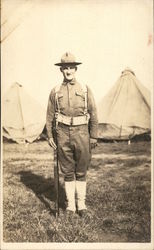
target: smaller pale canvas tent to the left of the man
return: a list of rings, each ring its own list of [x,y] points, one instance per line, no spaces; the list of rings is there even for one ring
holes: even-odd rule
[[[3,136],[17,143],[33,142],[45,125],[44,108],[14,83],[2,100]]]

